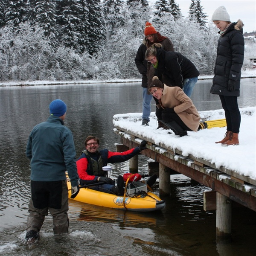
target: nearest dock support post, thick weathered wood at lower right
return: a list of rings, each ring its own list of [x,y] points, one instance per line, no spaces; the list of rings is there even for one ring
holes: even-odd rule
[[[231,236],[231,200],[225,195],[216,194],[216,236],[217,239],[230,239]]]

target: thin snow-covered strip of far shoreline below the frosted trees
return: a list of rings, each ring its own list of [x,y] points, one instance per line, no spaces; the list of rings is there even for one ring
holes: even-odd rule
[[[241,79],[256,78],[256,70],[242,74]],[[254,74],[253,74],[254,73]],[[212,76],[199,76],[198,80],[210,80]],[[141,79],[115,79],[115,80],[75,80],[75,81],[5,81],[0,82],[0,87],[23,87],[36,85],[65,85],[65,84],[111,84],[111,83],[138,83]]]

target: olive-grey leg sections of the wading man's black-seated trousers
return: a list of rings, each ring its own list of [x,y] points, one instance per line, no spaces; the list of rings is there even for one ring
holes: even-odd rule
[[[48,210],[52,215],[53,221],[53,233],[64,234],[68,232],[69,220],[67,216],[68,211],[68,190],[67,181],[62,180],[62,194],[61,194],[61,209],[54,209],[51,207],[45,207],[38,209],[34,207],[32,198],[29,202],[29,216],[27,221],[27,232],[35,230],[39,232],[44,223],[45,216],[48,215]]]

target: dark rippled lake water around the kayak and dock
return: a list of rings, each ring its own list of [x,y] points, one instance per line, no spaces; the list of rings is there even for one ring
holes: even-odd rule
[[[221,109],[219,97],[209,93],[210,87],[211,80],[196,84],[191,99],[198,111]],[[233,241],[216,244],[215,212],[203,210],[203,191],[208,188],[183,175],[172,176],[171,195],[161,197],[166,201],[161,212],[124,212],[70,200],[69,234],[53,236],[49,215],[38,246],[24,246],[30,198],[26,143],[32,128],[49,116],[49,103],[57,98],[67,104],[65,125],[73,131],[77,156],[90,134],[99,137],[101,148],[115,151],[120,138],[113,132],[113,115],[142,111],[140,83],[0,88],[1,255],[255,255],[255,212],[233,209]],[[239,107],[255,105],[255,79],[242,79]],[[151,111],[154,109],[152,101]],[[139,156],[139,172],[147,173],[147,160]],[[113,166],[113,177],[129,170],[128,162]],[[158,183],[154,192],[158,194]]]

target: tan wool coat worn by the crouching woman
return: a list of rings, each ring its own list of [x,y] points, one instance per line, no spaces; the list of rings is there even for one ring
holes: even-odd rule
[[[157,107],[163,109],[173,108],[187,127],[192,131],[198,131],[200,115],[192,100],[186,96],[180,87],[168,87],[163,84],[163,96]]]

